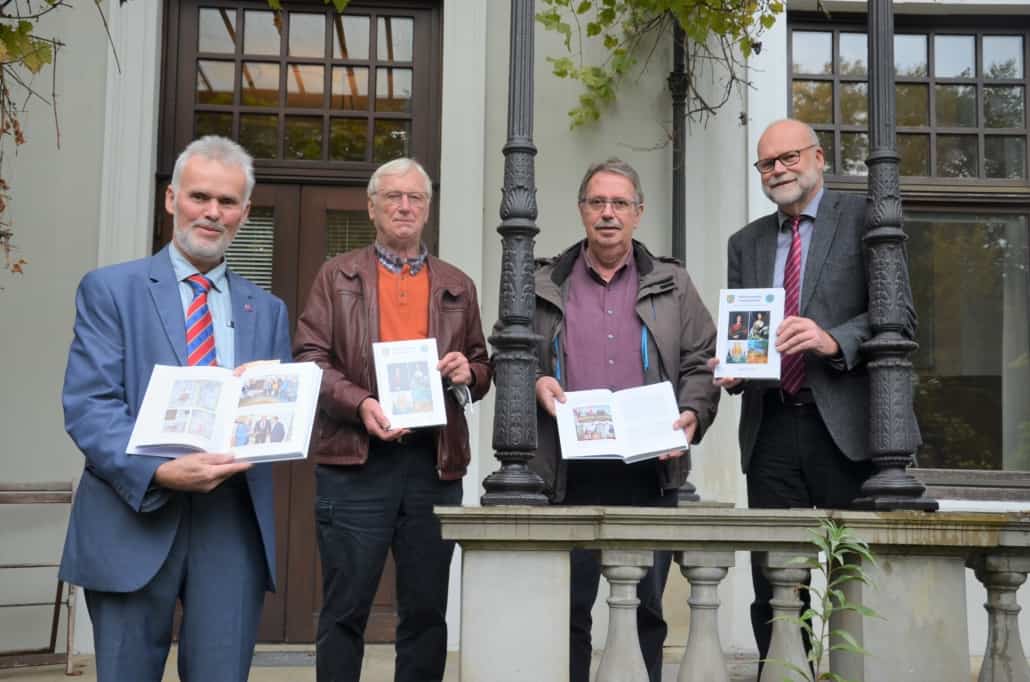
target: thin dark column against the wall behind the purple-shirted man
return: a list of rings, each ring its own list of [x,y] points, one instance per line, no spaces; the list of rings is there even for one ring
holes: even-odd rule
[[[673,258],[687,265],[687,74],[686,39],[680,23],[673,18],[673,70],[668,92],[673,96]],[[689,457],[690,452],[683,456]],[[689,474],[688,474],[689,475]],[[688,480],[679,490],[680,502],[700,502],[697,488]]]

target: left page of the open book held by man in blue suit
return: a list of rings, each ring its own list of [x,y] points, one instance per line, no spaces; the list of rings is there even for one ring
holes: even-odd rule
[[[233,409],[238,386],[225,368],[156,365],[128,452],[175,456],[217,451],[226,440],[217,415]]]

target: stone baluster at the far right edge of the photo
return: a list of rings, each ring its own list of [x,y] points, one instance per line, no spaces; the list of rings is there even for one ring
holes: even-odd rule
[[[967,566],[987,588],[987,649],[980,682],[1030,682],[1016,600],[1030,572],[1030,556],[974,554]]]

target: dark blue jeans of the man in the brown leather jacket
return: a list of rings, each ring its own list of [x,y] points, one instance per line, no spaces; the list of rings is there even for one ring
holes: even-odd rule
[[[319,682],[357,682],[365,626],[386,552],[397,561],[397,682],[439,682],[447,658],[447,582],[454,543],[434,505],[461,504],[461,481],[437,475],[431,444],[374,441],[360,467],[315,469],[322,567]]]

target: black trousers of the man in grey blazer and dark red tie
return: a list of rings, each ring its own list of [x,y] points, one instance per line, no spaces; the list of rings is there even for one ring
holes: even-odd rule
[[[837,448],[814,403],[787,405],[780,391],[766,391],[748,471],[750,508],[846,509],[872,472],[871,463],[852,462]],[[758,566],[757,554],[751,554],[755,588],[751,627],[759,657],[765,658],[772,638],[772,586]],[[803,612],[810,604],[808,590],[801,590],[800,596]],[[806,638],[804,645],[808,649]]]

